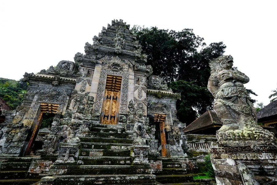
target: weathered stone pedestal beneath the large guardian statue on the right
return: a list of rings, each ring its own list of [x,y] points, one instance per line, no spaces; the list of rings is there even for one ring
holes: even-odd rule
[[[211,148],[218,185],[277,184],[277,146]]]

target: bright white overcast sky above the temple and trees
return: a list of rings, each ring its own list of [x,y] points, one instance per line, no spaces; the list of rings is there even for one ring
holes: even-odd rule
[[[276,1],[0,1],[0,77],[19,80],[61,60],[74,61],[86,42],[113,19],[160,29],[192,28],[205,42],[227,46],[225,55],[250,78],[246,88],[269,103],[276,79]]]

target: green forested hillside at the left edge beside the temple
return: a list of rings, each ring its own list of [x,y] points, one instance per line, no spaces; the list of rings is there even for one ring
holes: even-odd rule
[[[0,97],[10,108],[16,109],[18,105],[21,105],[27,87],[26,82],[0,78]]]

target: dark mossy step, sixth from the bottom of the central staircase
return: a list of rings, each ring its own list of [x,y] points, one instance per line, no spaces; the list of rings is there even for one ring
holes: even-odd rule
[[[95,137],[79,137],[81,142],[105,142],[105,143],[133,143],[134,139],[123,138],[95,138]]]

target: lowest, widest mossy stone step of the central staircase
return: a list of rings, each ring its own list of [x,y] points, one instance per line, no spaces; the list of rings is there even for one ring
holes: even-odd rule
[[[82,185],[114,184],[114,185],[155,185],[155,175],[54,175],[43,177],[40,185]]]

